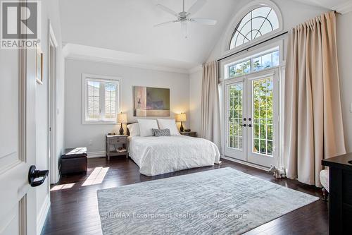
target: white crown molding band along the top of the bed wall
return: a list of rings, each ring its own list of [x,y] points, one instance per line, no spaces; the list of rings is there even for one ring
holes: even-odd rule
[[[149,58],[148,56],[142,56],[139,54],[118,52],[111,49],[89,47],[80,44],[65,44],[65,47],[63,47],[63,55],[65,59],[70,60],[94,61],[105,64],[117,64],[120,66],[143,68],[170,73],[189,74],[193,69],[187,68],[193,66],[193,64],[187,62],[172,61],[170,59]],[[161,64],[179,64],[180,66],[179,68],[175,68]]]

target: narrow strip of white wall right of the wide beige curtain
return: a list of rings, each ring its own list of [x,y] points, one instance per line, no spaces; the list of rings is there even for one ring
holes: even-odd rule
[[[337,17],[337,49],[341,88],[342,118],[344,119],[346,151],[352,152],[352,13]]]

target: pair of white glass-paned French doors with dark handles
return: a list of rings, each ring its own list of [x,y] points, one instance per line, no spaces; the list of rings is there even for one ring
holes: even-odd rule
[[[277,69],[225,83],[225,155],[270,167],[277,165],[279,82]]]

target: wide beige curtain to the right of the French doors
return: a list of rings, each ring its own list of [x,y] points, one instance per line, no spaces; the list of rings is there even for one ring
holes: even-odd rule
[[[334,12],[289,32],[284,115],[287,176],[321,186],[321,160],[346,153]]]

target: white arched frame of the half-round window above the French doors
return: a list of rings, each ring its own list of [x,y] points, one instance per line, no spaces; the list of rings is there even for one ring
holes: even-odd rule
[[[261,37],[257,37],[254,40],[251,40],[249,42],[246,42],[244,44],[239,45],[238,47],[234,47],[230,49],[231,46],[231,40],[232,36],[234,35],[234,32],[236,31],[236,27],[239,24],[239,22],[246,16],[250,11],[253,11],[256,8],[267,6],[272,8],[273,11],[275,11],[277,15],[277,20],[279,21],[279,28],[276,30],[273,30],[271,32],[266,33],[265,35]],[[279,7],[273,3],[270,0],[256,0],[256,1],[251,1],[249,4],[241,8],[241,10],[232,18],[232,21],[227,28],[227,31],[225,33],[224,41],[222,42],[222,56],[227,56],[230,54],[235,54],[236,52],[241,51],[242,49],[246,49],[247,47],[251,47],[254,44],[257,44],[258,42],[265,41],[270,39],[270,37],[274,37],[275,35],[279,35],[280,33],[283,32],[283,19],[282,19],[282,13],[279,10]]]

